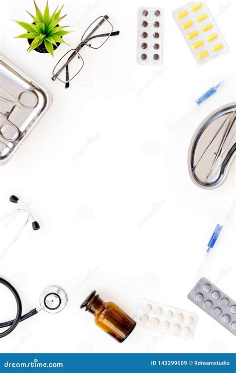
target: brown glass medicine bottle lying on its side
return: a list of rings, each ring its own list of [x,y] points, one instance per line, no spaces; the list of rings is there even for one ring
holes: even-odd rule
[[[131,319],[117,304],[104,302],[94,290],[81,304],[94,314],[95,324],[118,342],[123,342],[135,328],[136,322]]]

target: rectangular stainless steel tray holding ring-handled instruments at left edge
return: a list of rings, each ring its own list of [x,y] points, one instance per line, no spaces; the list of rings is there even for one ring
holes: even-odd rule
[[[0,54],[0,165],[9,161],[51,104],[48,90]]]

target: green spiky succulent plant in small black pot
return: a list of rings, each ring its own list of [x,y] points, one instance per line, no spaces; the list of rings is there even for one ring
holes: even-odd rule
[[[62,5],[59,10],[57,10],[57,6],[51,16],[49,14],[48,2],[46,4],[44,13],[40,11],[38,6],[36,5],[35,0],[34,5],[36,16],[27,11],[27,13],[33,18],[33,23],[21,22],[12,19],[14,22],[18,23],[21,27],[28,31],[25,34],[16,36],[16,38],[33,39],[32,43],[27,49],[27,53],[37,48],[40,44],[44,43],[46,50],[53,56],[53,44],[56,46],[57,43],[67,44],[62,39],[62,36],[71,32],[63,30],[63,28],[69,26],[58,26],[59,22],[66,16],[65,14],[60,17],[60,13],[64,5]]]

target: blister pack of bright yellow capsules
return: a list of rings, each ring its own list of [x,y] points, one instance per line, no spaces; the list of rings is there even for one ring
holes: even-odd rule
[[[203,1],[190,1],[175,9],[172,15],[198,64],[228,51],[228,46]]]

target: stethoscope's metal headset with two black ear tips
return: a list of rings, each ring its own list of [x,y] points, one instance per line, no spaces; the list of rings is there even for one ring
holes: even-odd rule
[[[29,220],[32,221],[32,228],[33,228],[34,231],[36,231],[40,228],[40,225],[38,224],[38,222],[36,220],[34,220],[33,215],[31,214],[31,212],[29,210],[29,207],[26,203],[20,201],[19,198],[16,197],[15,195],[10,196],[10,202],[19,203],[20,208],[18,208],[17,210],[12,211],[9,214],[1,217],[0,221],[4,220],[4,219],[6,219],[10,216],[13,216],[13,215],[15,215],[19,212],[25,212],[26,213],[26,219],[25,219],[24,223],[22,224],[22,226],[20,227],[20,229],[18,230],[18,232],[16,233],[16,235],[13,237],[13,239],[9,243],[9,245],[3,250],[3,252],[0,253],[0,259],[7,253],[8,250],[10,250],[11,246],[15,243],[15,241],[17,240],[17,238],[19,237],[19,235],[21,234],[22,230],[24,229],[24,227],[26,226],[26,224],[28,223]]]

